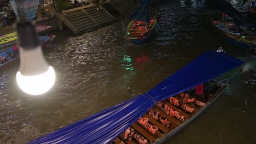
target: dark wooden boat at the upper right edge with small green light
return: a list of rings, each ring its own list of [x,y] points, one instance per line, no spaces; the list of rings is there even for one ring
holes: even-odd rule
[[[256,35],[252,31],[248,31],[246,26],[237,26],[232,17],[223,14],[220,19],[212,19],[211,23],[220,34],[232,43],[243,47],[256,46]]]

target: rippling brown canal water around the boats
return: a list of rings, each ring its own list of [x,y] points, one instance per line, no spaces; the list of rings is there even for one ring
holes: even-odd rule
[[[0,75],[0,143],[26,143],[144,93],[207,50],[247,61],[207,111],[165,143],[256,143],[256,50],[229,43],[207,28],[210,9],[241,17],[252,1],[170,0],[158,10],[155,35],[135,46],[121,22],[83,35],[53,32],[45,50],[56,70],[54,88],[31,97],[16,86],[16,67]],[[226,75],[230,77],[231,74]],[[132,95],[135,97],[135,95]]]

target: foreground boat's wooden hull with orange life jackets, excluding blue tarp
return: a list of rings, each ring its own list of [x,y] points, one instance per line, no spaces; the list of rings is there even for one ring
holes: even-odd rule
[[[180,93],[170,97],[179,101],[179,104],[176,105],[171,103],[172,101],[170,98],[158,101],[157,104],[151,107],[150,110],[141,117],[144,118],[144,121],[146,122],[139,121],[138,119],[137,122],[133,123],[128,130],[117,137],[117,139],[115,139],[112,143],[162,143],[170,139],[170,137],[177,134],[179,130],[183,129],[187,124],[193,121],[193,119],[205,111],[206,108],[210,106],[213,101],[215,101],[225,91],[226,88],[229,87],[228,84],[217,80],[212,80],[210,85],[212,85],[212,88],[214,87],[214,91],[208,93],[211,97],[207,99],[206,103],[203,103],[200,100],[195,100],[198,101],[198,103],[200,101],[202,104],[206,104],[205,106],[196,105],[195,101],[193,101],[193,103],[184,103],[184,99],[181,98],[181,95],[185,93]],[[201,97],[206,97],[205,94],[206,92],[204,92]],[[193,98],[191,96],[189,97],[190,99]],[[161,103],[162,106],[159,105]],[[183,109],[184,106],[193,109],[193,111],[189,112]],[[168,108],[166,109],[165,107],[170,107],[170,109],[177,111],[180,116],[184,116],[184,121],[182,122],[181,119],[171,116],[170,111],[168,111]],[[147,123],[147,125],[144,125],[144,123]],[[153,125],[153,129],[156,127],[157,130],[147,128],[150,127],[149,125]],[[130,129],[134,130],[134,133],[132,133]],[[129,136],[130,140],[127,139]],[[139,142],[138,139],[141,139],[141,141],[144,142]]]

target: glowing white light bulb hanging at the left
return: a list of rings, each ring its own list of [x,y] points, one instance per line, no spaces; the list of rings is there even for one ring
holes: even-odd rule
[[[44,59],[42,48],[23,49],[20,47],[20,69],[16,81],[22,91],[31,95],[43,94],[55,82],[55,71]]]

